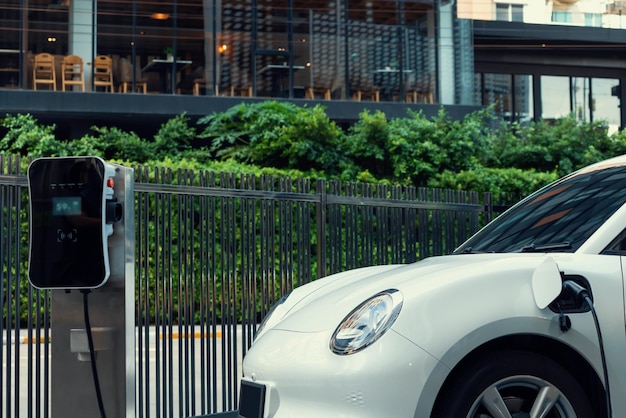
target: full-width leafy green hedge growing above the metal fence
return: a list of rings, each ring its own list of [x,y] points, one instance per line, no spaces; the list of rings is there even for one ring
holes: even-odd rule
[[[233,173],[276,171],[290,177],[324,177],[468,191],[528,194],[556,177],[626,153],[626,132],[607,135],[605,122],[569,116],[528,125],[504,123],[492,108],[451,120],[408,111],[388,119],[364,111],[346,132],[324,108],[288,102],[242,103],[207,115],[200,128],[183,114],[154,138],[115,127],[92,127],[82,138],[59,140],[55,125],[30,115],[7,115],[0,151],[29,157],[97,155],[154,166],[179,163],[196,170]],[[198,130],[201,132],[198,133]]]

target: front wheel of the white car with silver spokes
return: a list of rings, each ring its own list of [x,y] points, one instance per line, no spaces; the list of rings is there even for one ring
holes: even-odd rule
[[[587,418],[591,404],[555,361],[530,352],[490,353],[447,384],[433,418]]]

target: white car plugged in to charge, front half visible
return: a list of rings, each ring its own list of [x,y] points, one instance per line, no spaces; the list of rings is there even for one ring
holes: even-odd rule
[[[451,255],[296,288],[244,359],[239,415],[626,417],[625,203],[622,156]]]

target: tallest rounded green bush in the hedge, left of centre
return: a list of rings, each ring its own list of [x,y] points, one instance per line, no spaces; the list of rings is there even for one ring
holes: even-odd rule
[[[337,175],[349,164],[343,132],[321,106],[267,101],[234,106],[198,121],[219,159]]]

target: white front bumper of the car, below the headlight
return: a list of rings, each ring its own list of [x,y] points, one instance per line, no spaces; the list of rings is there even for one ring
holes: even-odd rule
[[[268,330],[244,359],[239,413],[412,417],[437,360],[393,330],[362,351],[336,355],[331,333]]]

